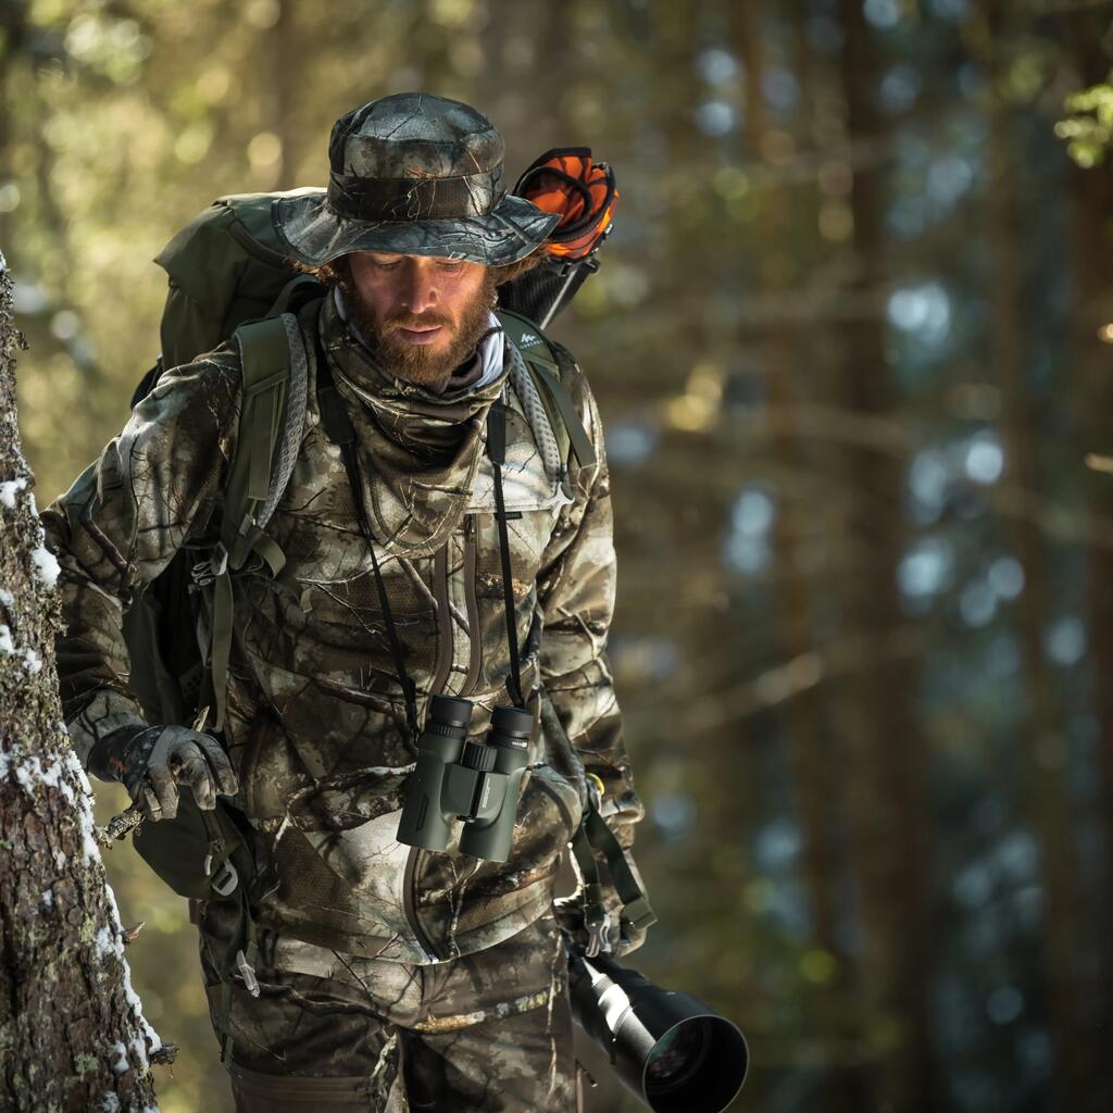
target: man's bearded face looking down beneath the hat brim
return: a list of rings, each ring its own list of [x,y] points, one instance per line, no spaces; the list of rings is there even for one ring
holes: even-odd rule
[[[356,252],[349,313],[384,370],[436,386],[487,329],[494,279],[480,263]]]

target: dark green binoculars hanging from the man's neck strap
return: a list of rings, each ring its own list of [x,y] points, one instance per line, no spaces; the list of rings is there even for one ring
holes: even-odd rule
[[[453,821],[461,819],[462,854],[505,861],[533,716],[516,707],[496,707],[486,741],[467,741],[471,720],[471,700],[434,696],[430,701],[397,838],[406,846],[443,850]]]

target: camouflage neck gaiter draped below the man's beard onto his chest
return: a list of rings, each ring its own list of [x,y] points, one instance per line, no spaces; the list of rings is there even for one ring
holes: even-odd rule
[[[491,403],[506,380],[439,395],[377,366],[331,297],[318,317],[322,345],[355,426],[375,540],[412,555],[440,549],[460,524],[483,453]]]

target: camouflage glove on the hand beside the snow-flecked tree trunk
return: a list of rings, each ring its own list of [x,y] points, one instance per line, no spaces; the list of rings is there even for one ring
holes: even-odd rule
[[[120,781],[150,820],[178,814],[179,782],[206,811],[216,807],[218,795],[232,796],[239,787],[220,743],[188,727],[117,730],[92,747],[89,771]]]

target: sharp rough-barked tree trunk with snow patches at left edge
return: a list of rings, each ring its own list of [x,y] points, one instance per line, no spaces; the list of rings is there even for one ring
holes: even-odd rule
[[[0,256],[0,1110],[155,1109],[144,1020],[93,839],[91,790],[55,668],[58,565],[16,422],[11,280]]]

